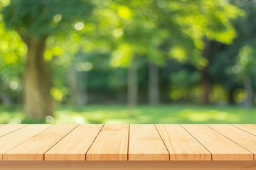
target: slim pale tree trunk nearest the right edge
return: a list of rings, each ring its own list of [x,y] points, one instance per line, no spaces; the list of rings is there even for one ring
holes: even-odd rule
[[[245,76],[245,107],[250,108],[253,106],[253,91],[252,91],[252,79],[249,76]]]

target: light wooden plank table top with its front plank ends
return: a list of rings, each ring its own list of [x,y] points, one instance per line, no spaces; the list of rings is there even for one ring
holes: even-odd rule
[[[255,160],[256,125],[0,125],[5,160]]]

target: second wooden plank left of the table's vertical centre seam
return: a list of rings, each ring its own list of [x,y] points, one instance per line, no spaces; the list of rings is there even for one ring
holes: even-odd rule
[[[85,153],[92,145],[103,125],[78,125],[45,154],[45,160],[85,160]]]

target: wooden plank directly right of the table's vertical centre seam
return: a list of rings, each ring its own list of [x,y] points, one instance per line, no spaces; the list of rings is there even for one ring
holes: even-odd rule
[[[169,160],[169,152],[154,125],[130,125],[129,160]]]

